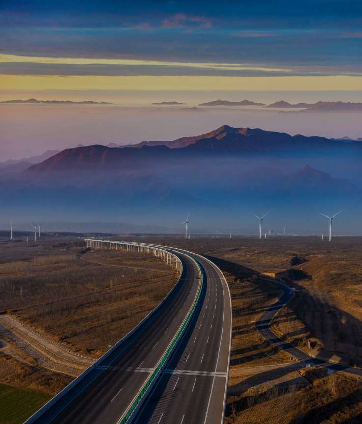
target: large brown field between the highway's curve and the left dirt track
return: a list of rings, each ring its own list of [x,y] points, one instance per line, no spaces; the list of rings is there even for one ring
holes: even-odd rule
[[[79,247],[43,248],[47,255],[0,264],[0,311],[95,357],[147,315],[177,278],[148,254],[100,250],[79,258]]]

